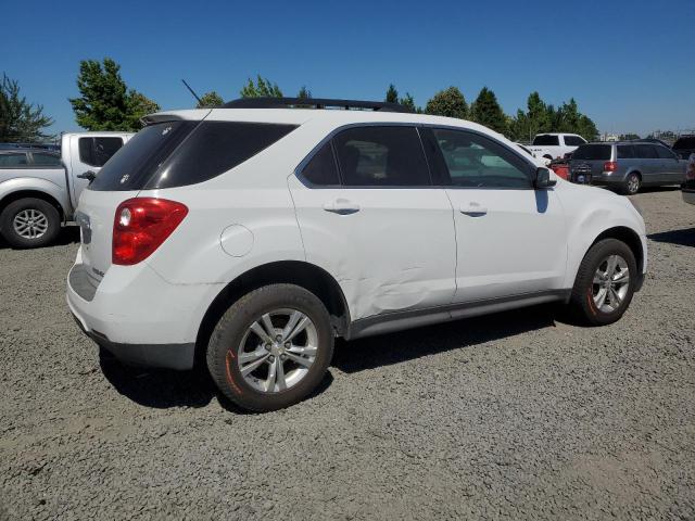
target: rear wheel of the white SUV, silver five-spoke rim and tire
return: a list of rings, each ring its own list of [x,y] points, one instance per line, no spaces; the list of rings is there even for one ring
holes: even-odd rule
[[[238,406],[289,407],[316,389],[333,356],[333,330],[316,295],[294,284],[270,284],[231,305],[207,345],[207,368]]]

